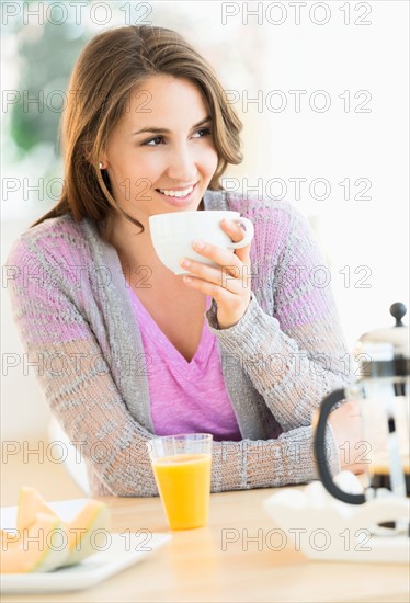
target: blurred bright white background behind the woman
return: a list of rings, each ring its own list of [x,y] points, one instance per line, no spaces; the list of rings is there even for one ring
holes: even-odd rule
[[[65,57],[68,39],[59,37],[58,24],[65,15],[52,4],[58,3],[31,2],[35,16],[24,14],[23,2],[2,2],[2,264],[18,235],[55,204],[58,186],[47,190],[47,182],[61,178],[56,144],[19,148],[10,102],[13,91],[25,90],[27,43],[36,41],[45,56]],[[145,21],[176,30],[214,65],[244,124],[244,161],[229,169],[227,185],[247,192],[260,179],[261,193],[285,193],[308,216],[331,271],[349,346],[362,332],[390,325],[390,304],[408,305],[409,298],[408,2],[98,4],[107,7],[105,14],[89,2],[77,12],[78,23],[67,9],[70,41]],[[20,13],[12,14],[12,5]],[[42,45],[46,26],[59,39],[56,49]],[[41,72],[44,60],[31,68]],[[49,90],[65,89],[65,80],[53,81]],[[260,105],[247,102],[258,98]],[[55,113],[45,102],[41,117],[52,121]],[[35,183],[44,195],[27,191]],[[23,348],[7,280],[1,295],[2,437],[32,440],[44,433],[48,411],[35,369],[15,360]],[[13,359],[16,365],[10,366]]]

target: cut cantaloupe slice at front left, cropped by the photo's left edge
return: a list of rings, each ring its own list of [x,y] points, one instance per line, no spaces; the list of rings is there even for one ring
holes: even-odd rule
[[[62,566],[69,556],[54,531],[64,531],[61,521],[49,513],[37,513],[29,527],[10,535],[1,531],[1,573],[50,571]],[[57,535],[58,543],[54,536]],[[59,534],[60,535],[60,534]]]

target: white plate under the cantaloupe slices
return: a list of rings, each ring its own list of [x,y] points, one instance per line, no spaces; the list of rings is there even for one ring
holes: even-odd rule
[[[62,520],[69,521],[87,500],[50,502],[49,507]],[[16,509],[5,507],[0,510],[0,525],[3,530],[15,527]],[[140,561],[170,539],[170,534],[152,534],[144,528],[135,534],[128,531],[123,534],[107,532],[105,544],[101,545],[104,550],[95,553],[81,564],[50,572],[2,573],[0,590],[2,593],[34,594],[86,589]]]

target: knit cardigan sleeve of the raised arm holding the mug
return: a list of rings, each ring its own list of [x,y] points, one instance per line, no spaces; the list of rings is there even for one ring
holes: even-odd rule
[[[285,432],[311,424],[323,397],[352,380],[351,363],[329,283],[329,271],[307,219],[293,211],[273,277],[262,274],[258,294],[273,294],[273,312],[252,293],[241,320],[220,330],[216,305],[209,327],[242,369]],[[266,244],[267,247],[267,244]],[[267,254],[267,253],[266,253]],[[326,282],[328,281],[328,282]]]

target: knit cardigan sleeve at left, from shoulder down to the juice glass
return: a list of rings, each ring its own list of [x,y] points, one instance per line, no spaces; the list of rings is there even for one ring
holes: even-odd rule
[[[50,270],[44,272],[45,255],[21,239],[9,254],[8,272],[14,320],[29,361],[38,367],[46,402],[86,462],[93,494],[155,496],[146,445],[152,435],[127,410],[70,296],[67,270],[48,258]]]

